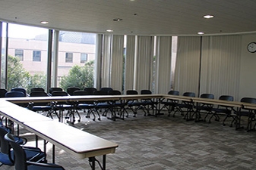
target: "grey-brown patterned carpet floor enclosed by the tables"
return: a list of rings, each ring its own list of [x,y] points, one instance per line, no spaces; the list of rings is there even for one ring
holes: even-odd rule
[[[119,144],[116,153],[106,156],[107,169],[256,169],[254,131],[235,131],[234,127],[215,121],[187,122],[182,116],[173,118],[167,114],[154,117],[139,112],[135,118],[130,114],[125,120],[103,117],[95,122],[82,117],[75,127]],[[24,131],[23,136],[33,144],[33,134]],[[51,147],[48,144],[49,162]],[[76,159],[57,147],[55,150],[55,162],[65,169],[90,169],[88,159]],[[101,161],[102,157],[97,159]],[[14,168],[3,165],[1,169]]]

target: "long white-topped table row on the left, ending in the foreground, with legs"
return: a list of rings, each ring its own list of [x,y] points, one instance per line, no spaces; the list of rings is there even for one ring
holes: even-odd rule
[[[49,117],[11,104],[6,99],[0,100],[0,115],[33,132],[36,137],[49,141],[53,145],[52,162],[55,162],[54,148],[57,146],[78,159],[89,158],[92,169],[95,169],[96,156],[103,156],[103,169],[106,169],[106,155],[115,153],[115,148],[119,147],[114,142],[56,122]]]

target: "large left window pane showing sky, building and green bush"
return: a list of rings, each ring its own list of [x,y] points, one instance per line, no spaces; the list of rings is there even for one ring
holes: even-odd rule
[[[48,29],[8,23],[8,90],[46,90]]]

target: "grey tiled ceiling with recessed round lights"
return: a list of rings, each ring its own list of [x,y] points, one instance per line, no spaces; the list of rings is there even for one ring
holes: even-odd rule
[[[205,19],[206,14],[214,17]],[[112,29],[112,34],[122,35],[256,32],[255,17],[255,0],[0,1],[0,20],[5,22],[79,32],[106,33]]]

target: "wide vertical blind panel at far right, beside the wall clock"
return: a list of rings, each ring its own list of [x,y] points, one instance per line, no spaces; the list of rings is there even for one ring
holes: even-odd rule
[[[241,36],[203,37],[201,93],[239,97]]]

